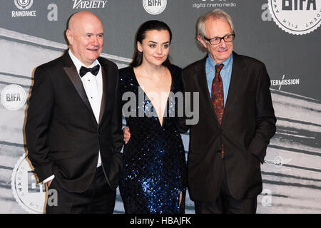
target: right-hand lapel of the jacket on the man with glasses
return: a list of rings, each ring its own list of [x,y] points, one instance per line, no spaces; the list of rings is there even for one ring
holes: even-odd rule
[[[230,78],[230,88],[228,88],[228,98],[225,103],[225,109],[222,119],[222,124],[224,122],[225,115],[228,114],[228,112],[233,107],[233,104],[235,103],[236,98],[238,98],[238,93],[240,93],[240,86],[242,85],[243,80],[243,66],[244,63],[240,59],[237,53],[233,52],[233,67],[232,67],[232,75]]]

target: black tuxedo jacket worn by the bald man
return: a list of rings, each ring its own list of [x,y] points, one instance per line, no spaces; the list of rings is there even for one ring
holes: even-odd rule
[[[99,123],[68,51],[36,68],[26,145],[39,182],[54,174],[64,189],[85,191],[93,180],[100,151],[108,184],[116,190],[123,145],[118,68],[105,58],[98,61],[103,76]]]

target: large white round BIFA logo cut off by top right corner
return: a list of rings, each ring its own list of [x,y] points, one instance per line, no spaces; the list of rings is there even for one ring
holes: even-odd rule
[[[319,0],[268,0],[270,14],[283,31],[303,35],[321,24]]]

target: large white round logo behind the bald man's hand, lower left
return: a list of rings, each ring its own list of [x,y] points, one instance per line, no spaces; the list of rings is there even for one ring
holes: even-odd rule
[[[26,156],[22,155],[14,167],[11,177],[11,190],[16,202],[27,212],[33,214],[44,213],[46,202],[46,187],[36,182]]]

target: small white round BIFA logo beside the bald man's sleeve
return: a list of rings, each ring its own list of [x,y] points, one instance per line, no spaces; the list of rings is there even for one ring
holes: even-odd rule
[[[6,86],[1,92],[1,103],[6,109],[18,110],[26,103],[26,91],[19,85]]]

